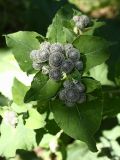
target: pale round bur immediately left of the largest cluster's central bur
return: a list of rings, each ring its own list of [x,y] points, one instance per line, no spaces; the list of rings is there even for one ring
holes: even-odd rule
[[[49,51],[46,50],[39,50],[39,61],[41,63],[46,62],[49,60]]]

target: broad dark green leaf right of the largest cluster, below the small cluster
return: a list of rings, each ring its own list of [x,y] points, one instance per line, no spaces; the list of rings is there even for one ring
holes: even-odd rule
[[[81,35],[73,45],[79,49],[85,58],[85,71],[105,62],[109,58],[109,43],[100,37]]]

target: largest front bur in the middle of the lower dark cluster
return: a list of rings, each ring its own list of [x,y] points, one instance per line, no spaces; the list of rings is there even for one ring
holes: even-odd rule
[[[65,89],[65,98],[66,101],[75,103],[79,100],[80,93],[75,88]]]

